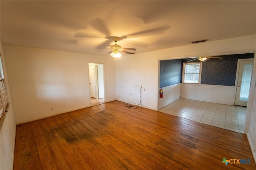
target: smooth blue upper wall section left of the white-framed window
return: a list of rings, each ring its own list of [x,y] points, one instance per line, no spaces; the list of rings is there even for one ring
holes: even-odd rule
[[[160,61],[160,88],[182,82],[182,60]]]

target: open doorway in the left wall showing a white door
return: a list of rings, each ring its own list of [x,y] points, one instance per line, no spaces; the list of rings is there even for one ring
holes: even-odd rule
[[[89,63],[91,106],[105,103],[103,64]]]

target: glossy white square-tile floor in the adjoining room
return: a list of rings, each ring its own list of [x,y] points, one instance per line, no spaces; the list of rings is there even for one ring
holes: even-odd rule
[[[242,106],[180,98],[159,111],[230,131],[244,132],[246,107]]]

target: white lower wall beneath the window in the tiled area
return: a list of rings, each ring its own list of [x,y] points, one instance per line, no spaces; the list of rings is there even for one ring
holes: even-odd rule
[[[234,105],[236,88],[235,86],[182,84],[180,97],[191,100]]]

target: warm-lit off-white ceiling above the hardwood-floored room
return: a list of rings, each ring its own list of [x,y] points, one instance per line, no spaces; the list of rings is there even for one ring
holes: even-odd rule
[[[121,47],[143,53],[256,34],[256,1],[0,3],[1,41],[10,45],[109,55],[96,48],[114,45],[112,37],[122,39]]]

